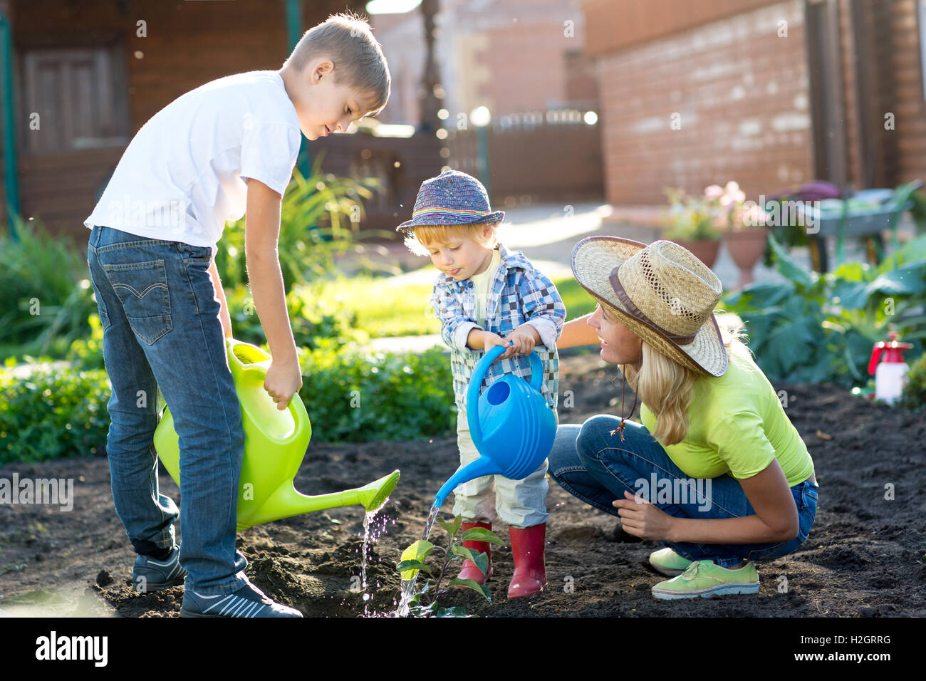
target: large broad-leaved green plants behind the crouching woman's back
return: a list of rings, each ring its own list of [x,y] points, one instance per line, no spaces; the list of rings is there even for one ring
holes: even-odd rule
[[[782,284],[753,284],[724,298],[746,324],[770,380],[838,385],[867,380],[871,347],[888,329],[922,351],[926,338],[926,237],[878,267],[848,262],[805,271],[770,236]]]

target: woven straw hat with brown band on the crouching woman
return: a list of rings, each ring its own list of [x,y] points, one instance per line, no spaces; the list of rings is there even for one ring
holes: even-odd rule
[[[727,351],[713,314],[720,279],[687,248],[590,236],[572,248],[576,281],[650,346],[696,372],[722,376]]]

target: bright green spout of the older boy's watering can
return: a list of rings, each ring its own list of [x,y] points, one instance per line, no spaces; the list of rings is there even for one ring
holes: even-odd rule
[[[316,496],[298,492],[292,483],[284,484],[255,513],[244,516],[239,514],[238,530],[302,513],[325,511],[342,506],[362,506],[368,513],[379,511],[389,495],[393,493],[398,481],[399,472],[393,471],[369,485]]]

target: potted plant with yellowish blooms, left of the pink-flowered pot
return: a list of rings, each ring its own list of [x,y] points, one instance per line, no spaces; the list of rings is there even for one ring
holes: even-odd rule
[[[686,195],[681,189],[667,189],[669,215],[664,239],[684,246],[707,267],[713,267],[720,252],[720,197]]]

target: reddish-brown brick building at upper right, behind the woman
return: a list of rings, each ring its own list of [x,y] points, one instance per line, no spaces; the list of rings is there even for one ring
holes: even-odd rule
[[[588,0],[614,205],[926,178],[926,0]]]

